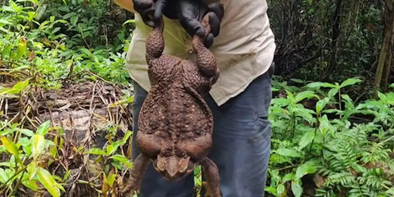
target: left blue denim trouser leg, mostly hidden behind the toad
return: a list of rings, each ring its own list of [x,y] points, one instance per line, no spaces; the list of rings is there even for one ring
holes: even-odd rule
[[[134,82],[134,134],[132,136],[132,159],[136,159],[139,151],[135,144],[135,138],[138,131],[138,115],[147,92]],[[193,174],[177,181],[170,182],[165,180],[162,175],[156,172],[152,163],[142,178],[141,191],[139,197],[192,197],[194,189]]]

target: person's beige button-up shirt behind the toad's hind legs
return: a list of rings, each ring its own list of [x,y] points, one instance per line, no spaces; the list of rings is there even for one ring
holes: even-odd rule
[[[208,2],[208,0],[206,0]],[[212,0],[210,1],[212,2]],[[210,95],[217,105],[241,93],[258,76],[268,71],[275,52],[275,38],[269,27],[266,0],[220,0],[225,9],[220,33],[209,48],[217,59],[220,76]],[[149,91],[145,60],[145,39],[152,30],[140,15],[126,55],[130,77]],[[191,37],[178,20],[164,17],[163,54],[196,60]]]

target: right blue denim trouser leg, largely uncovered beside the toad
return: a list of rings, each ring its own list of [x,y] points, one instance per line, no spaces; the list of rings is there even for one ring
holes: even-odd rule
[[[213,144],[208,157],[219,168],[222,197],[264,195],[271,142],[271,98],[267,72],[220,107],[209,95],[205,99],[214,113]]]

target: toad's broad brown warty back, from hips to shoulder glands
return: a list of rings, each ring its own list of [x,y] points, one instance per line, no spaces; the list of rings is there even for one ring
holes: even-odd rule
[[[201,96],[208,93],[210,80],[195,63],[161,56],[148,72],[152,87],[141,108],[141,132],[177,139],[212,132],[212,113]]]

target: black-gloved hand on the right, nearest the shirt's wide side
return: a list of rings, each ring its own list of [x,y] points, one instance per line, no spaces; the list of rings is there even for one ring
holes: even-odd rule
[[[214,37],[219,35],[220,23],[223,18],[224,8],[221,3],[204,4],[201,0],[177,0],[177,18],[182,27],[190,36],[197,34],[204,37],[204,26],[201,23],[204,15],[212,11],[209,16],[211,32],[205,38],[206,48],[212,46]]]

